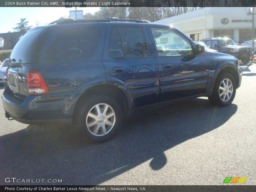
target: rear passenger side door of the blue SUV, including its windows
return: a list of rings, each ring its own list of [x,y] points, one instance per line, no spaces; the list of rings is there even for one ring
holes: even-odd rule
[[[125,87],[133,107],[154,104],[159,75],[145,24],[108,23],[103,63],[108,84]]]

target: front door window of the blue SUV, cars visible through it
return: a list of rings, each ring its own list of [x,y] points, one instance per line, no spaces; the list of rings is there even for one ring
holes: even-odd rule
[[[171,29],[152,27],[151,32],[154,37],[159,56],[193,54],[190,42]],[[167,38],[167,41],[165,41],[166,43],[161,41],[162,38]]]

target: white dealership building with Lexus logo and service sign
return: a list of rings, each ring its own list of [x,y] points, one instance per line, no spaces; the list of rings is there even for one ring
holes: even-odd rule
[[[195,41],[211,37],[246,41],[252,39],[252,15],[246,14],[249,9],[250,7],[206,7],[154,23],[172,25]]]

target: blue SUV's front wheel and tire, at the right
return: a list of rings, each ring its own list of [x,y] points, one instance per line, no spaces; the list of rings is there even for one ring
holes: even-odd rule
[[[225,84],[228,83],[229,86],[225,86],[223,84],[223,81]],[[230,86],[231,85],[230,83],[232,83],[232,86]],[[210,103],[212,103],[215,106],[225,107],[232,103],[232,101],[235,98],[235,95],[236,95],[235,78],[230,73],[222,73],[217,77],[214,88],[213,88],[212,96],[208,97],[208,99]]]

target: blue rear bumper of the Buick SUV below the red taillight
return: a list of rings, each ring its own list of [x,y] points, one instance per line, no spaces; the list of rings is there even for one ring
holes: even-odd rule
[[[16,98],[9,87],[2,95],[4,110],[13,119],[25,124],[72,124],[75,107],[74,93],[28,95],[25,100]]]

